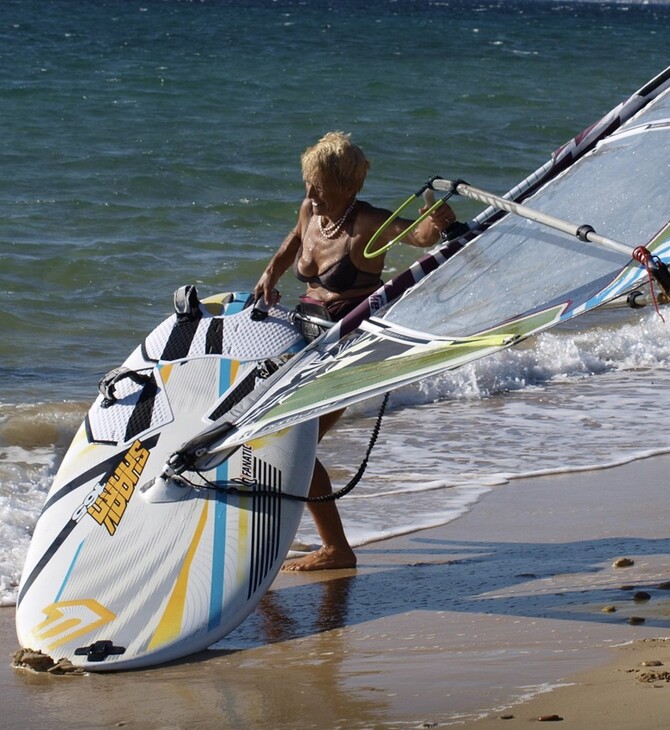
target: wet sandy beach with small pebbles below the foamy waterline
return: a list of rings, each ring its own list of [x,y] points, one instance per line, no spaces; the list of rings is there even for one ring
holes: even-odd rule
[[[4,724],[666,727],[668,469],[513,479],[449,524],[361,548],[355,570],[280,574],[235,632],[169,666],[13,669],[3,608]]]

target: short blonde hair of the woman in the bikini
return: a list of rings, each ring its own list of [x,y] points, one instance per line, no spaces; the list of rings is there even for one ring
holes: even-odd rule
[[[307,182],[317,179],[329,190],[356,195],[370,169],[363,150],[344,132],[328,132],[300,158],[302,176]]]

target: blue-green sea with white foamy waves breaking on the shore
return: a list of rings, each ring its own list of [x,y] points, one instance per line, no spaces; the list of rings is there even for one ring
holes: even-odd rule
[[[179,286],[253,287],[308,145],[351,133],[361,197],[391,210],[433,175],[503,193],[668,65],[668,27],[651,0],[2,0],[0,604],[99,379]],[[386,277],[415,254],[396,247]],[[448,523],[512,479],[670,451],[668,319],[605,311],[394,392],[339,502],[352,543]],[[322,442],[336,489],[378,410]],[[307,515],[298,540],[318,542]]]

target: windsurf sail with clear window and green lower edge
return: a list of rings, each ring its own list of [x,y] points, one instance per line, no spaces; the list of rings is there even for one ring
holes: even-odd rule
[[[636,247],[670,260],[668,189],[670,68],[505,196],[618,248],[487,209],[455,255],[445,245],[380,288],[182,455],[204,466],[250,438],[459,367],[634,290],[648,277]]]

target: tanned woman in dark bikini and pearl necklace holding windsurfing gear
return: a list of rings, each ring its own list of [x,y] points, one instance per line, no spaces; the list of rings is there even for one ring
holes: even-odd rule
[[[300,206],[298,222],[265,268],[254,294],[267,304],[275,304],[279,301],[277,283],[293,268],[298,279],[307,285],[301,299],[321,305],[336,321],[381,285],[384,255],[367,259],[363,252],[391,213],[358,200],[370,163],[349,135],[329,132],[305,150],[301,163],[306,197]],[[411,229],[403,242],[418,247],[433,246],[440,239],[440,232],[455,220],[453,210],[442,205]],[[412,221],[397,218],[377,239],[375,248],[382,248],[411,225]],[[321,417],[319,441],[342,413]],[[318,497],[331,492],[328,472],[317,459],[309,494]],[[335,502],[311,502],[308,506],[322,547],[287,564],[284,570],[353,568],[356,556]]]

